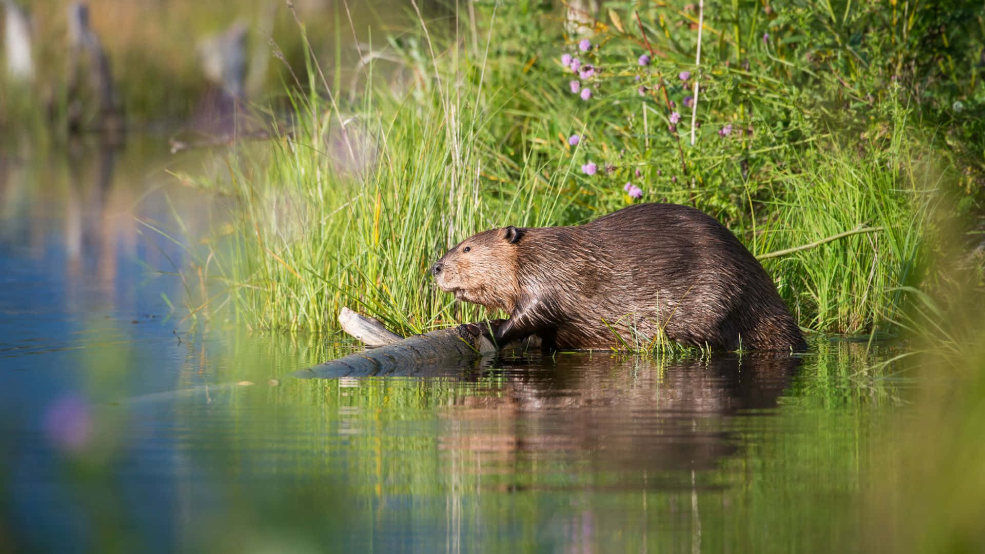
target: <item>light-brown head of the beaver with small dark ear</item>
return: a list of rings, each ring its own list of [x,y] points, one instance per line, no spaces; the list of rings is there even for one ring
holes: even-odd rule
[[[431,266],[442,291],[455,298],[512,312],[519,296],[517,242],[523,230],[493,229],[459,242]]]

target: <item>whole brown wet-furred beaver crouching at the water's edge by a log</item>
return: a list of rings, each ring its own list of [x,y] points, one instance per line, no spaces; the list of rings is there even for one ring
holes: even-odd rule
[[[711,216],[636,204],[585,225],[505,227],[459,242],[431,268],[455,298],[498,309],[497,344],[538,335],[560,349],[633,337],[716,350],[807,348],[755,256]]]

